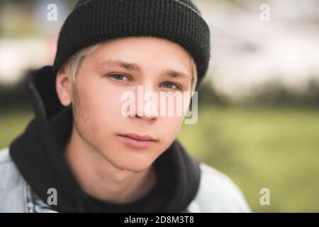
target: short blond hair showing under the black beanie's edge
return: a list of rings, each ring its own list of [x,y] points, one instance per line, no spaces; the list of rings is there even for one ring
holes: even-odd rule
[[[68,77],[74,84],[75,84],[75,77],[77,76],[77,73],[79,72],[79,69],[82,66],[82,62],[84,58],[87,55],[90,55],[92,52],[94,52],[101,45],[102,43],[91,45],[87,48],[79,50],[78,52],[76,52],[74,55],[72,55],[69,58],[69,60],[67,61],[67,68],[69,72]],[[191,91],[194,92],[194,90],[196,89],[196,83],[197,83],[197,68],[196,68],[196,64],[194,62],[193,57],[191,57],[191,67],[192,67],[192,74],[193,74],[193,77],[191,78]]]

